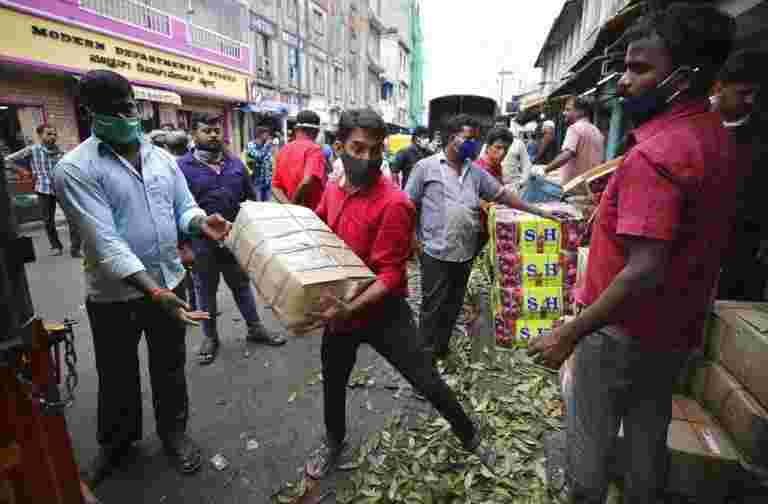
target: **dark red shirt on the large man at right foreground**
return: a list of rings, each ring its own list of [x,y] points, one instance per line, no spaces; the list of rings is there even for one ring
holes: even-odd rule
[[[681,103],[632,132],[635,145],[598,208],[584,286],[594,303],[627,264],[624,237],[668,242],[666,276],[634,297],[619,324],[647,350],[690,350],[702,342],[712,289],[746,163],[707,103]]]

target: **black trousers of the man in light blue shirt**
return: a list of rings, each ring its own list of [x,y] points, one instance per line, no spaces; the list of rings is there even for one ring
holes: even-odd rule
[[[184,298],[183,289],[175,290]],[[142,437],[138,345],[147,340],[152,404],[157,433],[172,439],[187,428],[189,400],[186,328],[146,298],[115,303],[86,302],[99,375],[97,439],[119,445]]]

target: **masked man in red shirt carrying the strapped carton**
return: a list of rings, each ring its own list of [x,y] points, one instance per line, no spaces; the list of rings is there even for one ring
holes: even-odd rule
[[[381,174],[387,127],[370,109],[344,112],[336,150],[344,176],[328,186],[317,214],[376,274],[353,301],[328,299],[318,313],[328,326],[321,350],[327,435],[306,465],[308,476],[324,477],[336,465],[346,437],[347,382],[362,343],[372,346],[450,422],[464,448],[492,468],[495,453],[481,442],[431,357],[421,349],[419,331],[405,301],[406,264],[416,210],[408,196]]]

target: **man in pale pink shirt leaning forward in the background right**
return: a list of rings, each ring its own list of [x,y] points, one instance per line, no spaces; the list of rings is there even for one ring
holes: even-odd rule
[[[567,184],[604,161],[605,137],[589,118],[592,105],[584,98],[573,97],[565,104],[565,132],[560,154],[544,168],[544,173],[561,169],[560,183]]]

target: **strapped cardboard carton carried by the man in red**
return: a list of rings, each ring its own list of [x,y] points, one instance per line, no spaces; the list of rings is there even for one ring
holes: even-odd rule
[[[267,304],[297,334],[322,324],[309,314],[321,298],[353,299],[373,272],[312,210],[243,203],[225,240]]]

